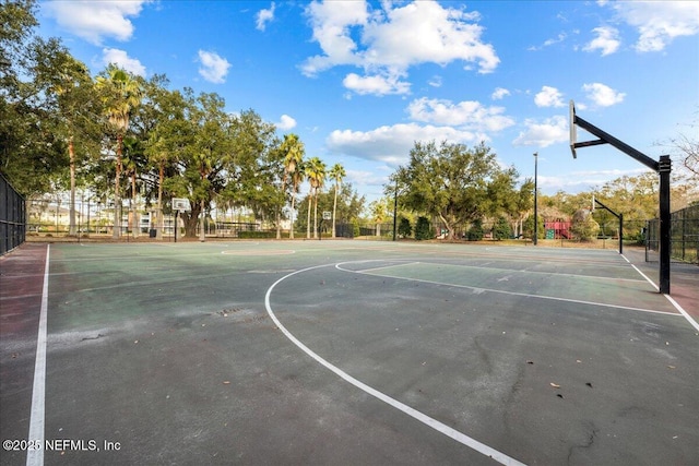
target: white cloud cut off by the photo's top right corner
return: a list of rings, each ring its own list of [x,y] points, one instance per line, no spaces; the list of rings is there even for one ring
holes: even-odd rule
[[[618,16],[639,33],[636,49],[661,51],[676,37],[699,34],[697,1],[618,1],[607,2]]]

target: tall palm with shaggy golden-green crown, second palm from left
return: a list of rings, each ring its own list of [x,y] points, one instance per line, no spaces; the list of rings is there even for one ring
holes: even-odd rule
[[[105,74],[97,76],[97,89],[102,92],[104,112],[117,136],[117,174],[114,181],[114,238],[119,238],[121,229],[121,198],[119,179],[121,178],[121,151],[123,136],[129,130],[129,119],[135,107],[141,104],[142,88],[127,71],[110,64]]]

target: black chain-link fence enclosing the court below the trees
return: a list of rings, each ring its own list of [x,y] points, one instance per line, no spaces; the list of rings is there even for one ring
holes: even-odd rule
[[[63,240],[76,240],[87,238],[104,238],[112,240],[114,232],[114,205],[110,203],[97,202],[91,199],[79,199],[75,206],[76,235],[69,235],[69,203],[64,198],[51,196],[34,199],[25,203],[22,198],[7,181],[0,178],[0,244],[1,253],[21,244],[26,237],[38,238],[62,238]],[[173,240],[175,236],[175,225],[178,225],[178,237],[185,239],[183,224],[181,218],[175,222],[171,214],[164,215],[162,224],[155,222],[154,212],[135,211],[125,205],[121,208],[121,225],[119,238],[121,241],[133,241],[135,239],[158,239]],[[399,218],[400,220],[400,218]],[[556,229],[556,223],[543,222],[540,228],[540,241],[560,247],[596,247],[616,248],[618,243],[620,225],[617,218],[612,215],[599,215],[597,223],[600,231],[597,238],[591,242],[582,243],[580,240],[564,235]],[[304,225],[297,225],[295,229],[296,238],[306,238],[307,231]],[[339,220],[335,226],[337,238],[392,240],[414,238],[416,225],[411,225],[412,234],[405,236],[401,230],[400,222],[396,225],[398,231],[393,232],[393,223],[383,222],[377,225],[371,222],[345,223]],[[473,226],[471,226],[473,227]],[[470,228],[471,228],[470,227]],[[477,240],[518,239],[531,241],[531,232],[522,235],[522,225],[511,225],[505,236],[496,232],[496,224],[483,223],[479,225],[481,235]],[[204,223],[206,238],[275,238],[276,228],[265,222],[259,222],[250,215],[244,213],[242,216],[233,215],[224,211],[208,212]],[[430,239],[445,239],[447,231],[441,222],[429,222]],[[470,228],[463,228],[458,235],[459,240],[476,239],[466,235]],[[159,231],[158,231],[159,229]],[[329,238],[332,231],[332,223],[323,220],[319,223],[319,234],[323,238]],[[517,231],[517,235],[514,234]],[[624,242],[645,246],[645,259],[648,262],[657,261],[660,220],[624,220]],[[672,214],[671,225],[672,244],[671,256],[674,261],[699,264],[699,205],[684,208]],[[283,238],[288,238],[288,225],[283,228]],[[311,230],[312,236],[312,230]],[[194,238],[199,237],[199,225]]]

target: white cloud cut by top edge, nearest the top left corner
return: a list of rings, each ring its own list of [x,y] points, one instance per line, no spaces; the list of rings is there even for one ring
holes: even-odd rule
[[[133,35],[129,16],[137,17],[146,0],[133,1],[46,1],[42,9],[71,34],[94,45],[103,38],[128,40]]]

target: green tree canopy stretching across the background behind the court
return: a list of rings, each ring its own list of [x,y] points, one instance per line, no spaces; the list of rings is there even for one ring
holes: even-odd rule
[[[342,182],[344,168],[305,159],[297,134],[279,136],[253,109],[230,112],[215,93],[170,89],[164,75],[146,80],[109,64],[93,77],[59,39],[37,36],[37,8],[35,0],[0,2],[0,171],[26,196],[70,189],[74,212],[81,187],[114,208],[117,226],[122,199],[133,215],[137,205],[155,205],[159,226],[168,200],[187,198],[188,235],[213,207],[245,207],[275,224],[280,236],[285,216],[310,234],[310,207],[313,225],[318,207],[333,212],[333,224],[363,212],[364,196]],[[673,208],[682,208],[699,198],[697,140],[680,135],[672,143],[690,174],[673,182]],[[311,195],[297,206],[305,180]],[[396,191],[405,215],[439,218],[451,239],[486,219],[502,231],[503,219],[516,228],[519,223],[521,231],[533,207],[532,180],[499,165],[484,143],[415,142],[407,164],[391,176],[387,198]],[[625,219],[656,215],[654,174],[621,177],[587,193],[540,195],[540,208],[572,218],[590,206],[592,193]],[[365,215],[384,220],[393,203],[384,199],[374,207]],[[294,223],[297,210],[308,214]]]

